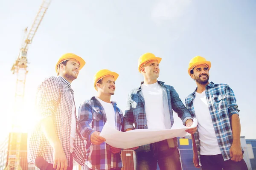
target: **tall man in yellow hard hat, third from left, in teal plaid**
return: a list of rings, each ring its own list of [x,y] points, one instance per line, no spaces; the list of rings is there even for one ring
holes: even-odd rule
[[[128,94],[125,111],[124,130],[170,129],[174,123],[173,110],[186,126],[192,125],[192,117],[181,102],[177,92],[170,85],[157,81],[160,57],[152,53],[143,54],[138,62],[139,72],[144,82]],[[133,124],[135,123],[135,128]],[[194,133],[196,127],[188,130]],[[181,170],[177,139],[140,146],[136,151],[137,170]]]

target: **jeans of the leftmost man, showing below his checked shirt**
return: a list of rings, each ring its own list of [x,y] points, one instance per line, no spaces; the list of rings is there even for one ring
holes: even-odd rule
[[[56,170],[53,168],[53,164],[48,163],[44,160],[43,156],[39,156],[35,159],[36,170]],[[70,166],[67,170],[73,170],[73,157],[70,155]]]

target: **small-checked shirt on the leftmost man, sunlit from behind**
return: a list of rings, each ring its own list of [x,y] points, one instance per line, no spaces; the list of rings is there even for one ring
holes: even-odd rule
[[[74,98],[70,82],[63,77],[49,77],[39,85],[36,97],[36,113],[38,113],[39,120],[28,136],[29,164],[35,164],[35,158],[38,156],[43,156],[48,163],[53,164],[53,148],[44,136],[39,123],[40,120],[51,116],[56,134],[61,141],[62,149],[67,158],[67,166],[69,166],[72,101],[74,101]],[[85,162],[84,140],[77,130],[73,146],[73,158],[83,165]]]

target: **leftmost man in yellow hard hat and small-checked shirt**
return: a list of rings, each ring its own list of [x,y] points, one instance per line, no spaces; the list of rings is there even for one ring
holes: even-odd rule
[[[72,170],[73,158],[85,162],[84,141],[76,130],[76,106],[71,82],[84,59],[67,53],[58,59],[58,77],[45,79],[39,86],[36,108],[39,121],[28,139],[28,163],[41,170]]]

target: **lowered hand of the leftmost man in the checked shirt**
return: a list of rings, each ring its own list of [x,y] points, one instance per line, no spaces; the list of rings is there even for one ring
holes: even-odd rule
[[[56,168],[56,170],[67,170],[67,158],[61,144],[53,148],[53,168]]]

